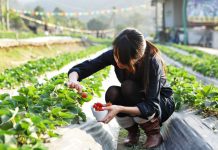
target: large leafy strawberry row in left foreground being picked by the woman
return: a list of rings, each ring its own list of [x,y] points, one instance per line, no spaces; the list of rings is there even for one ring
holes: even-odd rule
[[[86,121],[81,106],[102,91],[101,82],[109,69],[81,82],[86,97],[65,86],[66,74],[42,85],[21,87],[17,96],[0,95],[0,148],[45,149],[42,143],[59,136],[54,131],[57,126]],[[97,80],[90,81],[92,78]]]

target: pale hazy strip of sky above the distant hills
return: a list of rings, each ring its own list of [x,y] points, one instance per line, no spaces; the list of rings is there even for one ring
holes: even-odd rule
[[[67,12],[110,9],[113,6],[118,8],[141,4],[150,6],[150,0],[10,0],[10,2],[12,8],[20,10],[33,10],[40,5],[46,11],[53,11],[55,7],[59,7]]]

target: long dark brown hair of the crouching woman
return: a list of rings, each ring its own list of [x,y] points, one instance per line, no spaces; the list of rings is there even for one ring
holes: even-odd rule
[[[121,31],[113,41],[113,49],[118,61],[132,68],[133,72],[135,71],[135,64],[132,60],[140,62],[142,60],[144,63],[143,82],[145,93],[149,86],[151,58],[157,56],[161,60],[163,68],[165,68],[158,48],[151,42],[145,41],[143,34],[136,29],[128,28]]]

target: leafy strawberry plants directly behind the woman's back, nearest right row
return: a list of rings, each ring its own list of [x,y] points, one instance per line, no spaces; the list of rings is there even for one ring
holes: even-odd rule
[[[184,69],[168,66],[167,78],[174,90],[176,108],[188,104],[197,109],[211,110],[218,115],[218,88],[203,85]]]

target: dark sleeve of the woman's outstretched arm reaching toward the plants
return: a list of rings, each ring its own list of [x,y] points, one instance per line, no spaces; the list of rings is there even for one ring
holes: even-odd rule
[[[77,72],[79,75],[78,81],[92,75],[93,73],[103,69],[106,66],[113,64],[113,50],[104,52],[100,56],[92,60],[86,60],[68,71],[68,76],[71,72]]]

